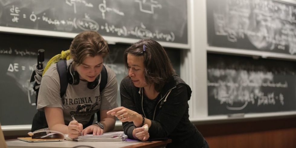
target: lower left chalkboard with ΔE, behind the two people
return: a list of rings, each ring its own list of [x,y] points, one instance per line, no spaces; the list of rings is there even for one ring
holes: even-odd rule
[[[37,51],[45,50],[45,63],[62,50],[69,49],[71,39],[37,37],[0,33],[0,121],[2,125],[31,124],[36,112],[35,92],[29,83],[37,63]],[[123,52],[128,44],[109,45],[111,54],[104,63],[116,73],[119,84],[127,76],[123,64]],[[180,50],[167,48],[169,58],[180,73]],[[120,105],[120,95],[117,94]]]

